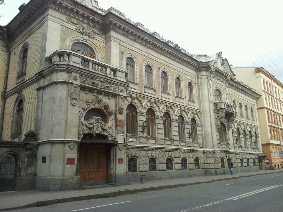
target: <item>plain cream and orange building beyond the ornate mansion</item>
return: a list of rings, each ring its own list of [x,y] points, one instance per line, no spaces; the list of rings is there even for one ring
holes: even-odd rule
[[[239,80],[243,80],[261,94],[257,100],[262,151],[266,169],[282,168],[283,140],[283,84],[264,68],[233,67]]]

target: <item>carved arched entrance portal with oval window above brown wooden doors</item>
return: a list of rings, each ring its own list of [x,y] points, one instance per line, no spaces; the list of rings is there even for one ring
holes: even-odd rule
[[[81,119],[81,142],[78,173],[81,185],[108,182],[111,147],[118,143],[113,138],[113,122],[101,108],[91,108]]]

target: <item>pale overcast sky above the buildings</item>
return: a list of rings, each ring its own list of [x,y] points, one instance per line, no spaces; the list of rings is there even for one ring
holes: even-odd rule
[[[28,0],[5,0],[0,25]],[[234,66],[264,67],[283,82],[283,1],[100,0],[191,54],[222,51]]]

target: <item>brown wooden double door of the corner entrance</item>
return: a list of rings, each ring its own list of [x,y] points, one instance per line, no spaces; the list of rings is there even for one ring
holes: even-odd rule
[[[108,151],[106,146],[80,146],[79,175],[81,185],[99,185],[107,182]]]

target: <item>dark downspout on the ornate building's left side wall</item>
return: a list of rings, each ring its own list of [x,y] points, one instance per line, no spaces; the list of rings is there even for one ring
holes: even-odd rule
[[[2,107],[1,107],[1,116],[0,116],[0,140],[2,140],[2,134],[3,134],[2,132],[3,132],[3,122],[4,122],[4,110],[5,110],[5,103],[6,103],[5,93],[7,89],[8,72],[9,72],[9,65],[10,65],[10,49],[9,49],[7,31],[5,27],[3,28],[3,30],[4,30],[5,41],[6,41],[7,61],[6,61],[4,85],[3,85],[3,90],[1,92]]]

